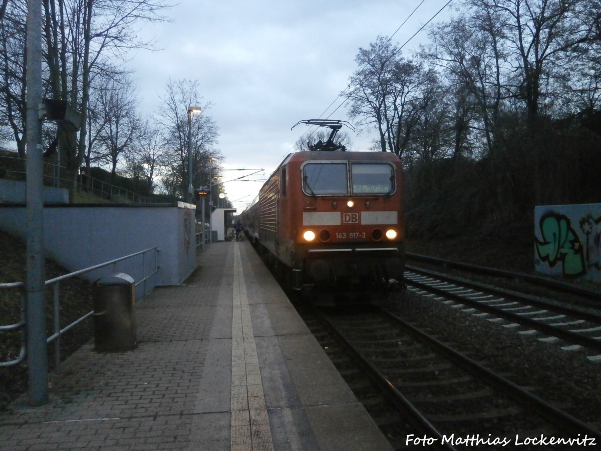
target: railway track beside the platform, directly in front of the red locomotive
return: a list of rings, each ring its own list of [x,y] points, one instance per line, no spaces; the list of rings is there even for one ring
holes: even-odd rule
[[[399,408],[395,449],[540,450],[543,437],[601,443],[601,432],[538,397],[535,387],[514,384],[394,314],[374,308],[322,316]]]

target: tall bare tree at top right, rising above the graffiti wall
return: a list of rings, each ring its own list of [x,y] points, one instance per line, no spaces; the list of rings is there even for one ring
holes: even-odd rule
[[[585,23],[588,2],[584,0],[469,0],[475,18],[490,35],[499,35],[505,47],[506,85],[524,102],[525,115],[533,124],[541,106],[561,88],[560,79],[577,56],[576,49],[589,43],[596,33]],[[486,20],[484,20],[486,19]]]

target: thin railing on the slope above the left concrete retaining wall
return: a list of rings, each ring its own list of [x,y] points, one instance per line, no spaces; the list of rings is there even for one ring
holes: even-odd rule
[[[13,156],[0,155],[0,159],[11,161],[11,164],[6,164],[4,168],[0,168],[0,177],[11,180],[25,180],[25,159]],[[61,179],[59,174],[64,167],[59,167],[53,163],[44,161],[43,183],[46,186],[54,186],[61,188],[66,186],[66,180]],[[4,175],[3,175],[4,174]],[[98,197],[111,200],[124,200],[132,203],[154,203],[162,202],[163,200],[154,200],[137,192],[130,191],[121,186],[111,185],[111,183],[103,180],[95,179],[87,174],[79,174],[77,177],[78,191],[87,191]]]

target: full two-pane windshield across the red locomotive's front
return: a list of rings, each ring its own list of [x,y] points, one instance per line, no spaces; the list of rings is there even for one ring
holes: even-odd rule
[[[303,165],[303,189],[310,195],[391,194],[394,167],[387,163],[310,162]],[[350,184],[349,184],[350,175]]]

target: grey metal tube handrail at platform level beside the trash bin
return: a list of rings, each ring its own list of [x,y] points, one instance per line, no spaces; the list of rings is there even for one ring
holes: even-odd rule
[[[146,268],[146,266],[147,266],[146,256],[148,253],[154,253],[154,268],[152,268],[152,266],[151,266],[151,271],[149,274],[147,274],[147,268]],[[139,251],[139,252],[124,256],[124,257],[120,257],[118,259],[109,260],[108,262],[105,262],[105,263],[100,263],[99,265],[90,266],[89,268],[80,269],[79,271],[70,272],[69,274],[61,275],[59,277],[55,277],[50,280],[46,280],[46,283],[45,283],[46,286],[52,286],[53,318],[54,318],[53,334],[47,338],[46,342],[48,344],[54,342],[54,349],[55,349],[54,358],[55,358],[55,370],[56,371],[58,371],[59,364],[61,361],[61,349],[60,349],[61,336],[64,333],[66,333],[67,331],[71,330],[76,325],[80,324],[82,321],[85,321],[85,319],[90,318],[90,316],[92,316],[94,314],[94,310],[89,311],[88,313],[84,314],[84,316],[82,316],[81,318],[76,319],[75,321],[73,321],[71,324],[67,325],[64,328],[61,328],[61,326],[60,326],[60,308],[59,308],[60,307],[59,284],[61,283],[61,281],[66,280],[68,278],[77,277],[78,275],[85,274],[87,272],[96,271],[97,269],[106,268],[106,266],[111,266],[111,265],[113,265],[113,272],[117,272],[116,267],[117,267],[118,262],[122,262],[123,260],[131,259],[133,257],[141,255],[142,256],[142,268],[143,268],[142,269],[142,277],[140,278],[140,280],[138,280],[135,283],[135,286],[138,287],[140,284],[143,284],[143,291],[142,291],[143,296],[142,297],[144,298],[146,296],[146,286],[147,286],[146,281],[150,277],[152,277],[154,274],[156,274],[160,268],[159,262],[158,262],[158,253],[159,253],[158,248],[156,248],[156,247],[148,248],[143,251]],[[20,319],[20,321],[15,324],[0,326],[0,333],[8,332],[8,331],[15,331],[15,330],[21,331],[21,347],[19,350],[19,356],[10,361],[0,362],[0,367],[7,367],[7,366],[13,366],[13,365],[21,363],[23,360],[25,360],[25,357],[27,354],[27,351],[26,351],[26,348],[27,348],[27,346],[26,346],[27,323],[26,323],[26,318],[25,318],[25,284],[22,282],[0,283],[0,289],[19,289],[21,291],[21,301],[20,301],[21,319]]]

